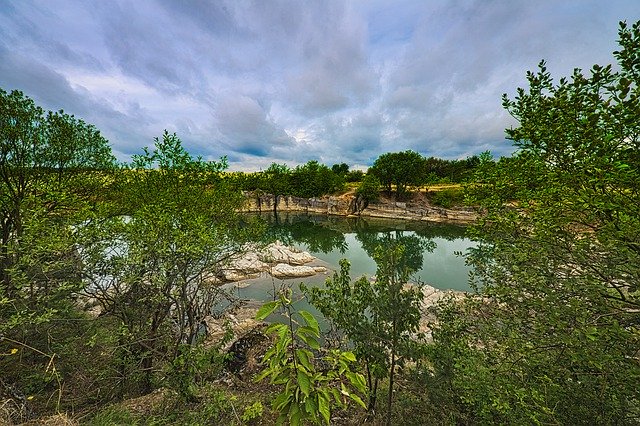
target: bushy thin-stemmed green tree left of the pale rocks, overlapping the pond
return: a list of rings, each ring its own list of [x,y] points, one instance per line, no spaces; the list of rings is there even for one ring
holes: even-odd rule
[[[192,158],[165,131],[119,176],[125,215],[110,220],[90,292],[122,324],[120,374],[142,391],[181,347],[198,343],[216,304],[233,302],[217,276],[252,229],[237,220],[243,198],[221,178],[225,167],[224,158]]]

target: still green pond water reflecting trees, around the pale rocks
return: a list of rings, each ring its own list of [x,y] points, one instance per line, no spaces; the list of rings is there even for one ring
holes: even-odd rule
[[[368,277],[376,273],[373,255],[376,250],[388,250],[401,244],[404,265],[412,271],[412,282],[429,284],[440,289],[469,290],[469,268],[459,253],[474,246],[465,238],[465,228],[457,225],[397,221],[373,218],[280,213],[262,215],[268,224],[268,239],[308,251],[318,258],[312,265],[325,266],[326,274],[290,280],[273,279],[268,275],[249,280],[237,289],[243,299],[269,300],[274,289],[300,282],[322,285],[340,259],[351,263],[351,276]]]

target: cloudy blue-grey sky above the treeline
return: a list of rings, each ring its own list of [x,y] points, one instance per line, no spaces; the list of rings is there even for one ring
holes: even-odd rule
[[[0,0],[0,88],[129,161],[166,129],[231,170],[509,155],[501,96],[614,62],[638,0]]]

